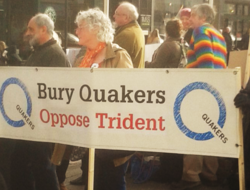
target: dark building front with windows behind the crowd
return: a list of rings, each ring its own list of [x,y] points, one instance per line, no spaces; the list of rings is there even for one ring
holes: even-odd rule
[[[158,28],[164,34],[164,26],[172,17],[178,16],[182,7],[209,3],[218,14],[215,27],[231,26],[232,33],[240,37],[248,31],[250,21],[250,0],[128,0],[140,14],[139,24],[144,33]],[[80,10],[99,7],[113,19],[121,0],[0,0],[0,40],[8,45],[22,41],[27,22],[38,12],[47,13],[55,21],[55,30],[64,37],[75,33],[75,17]]]

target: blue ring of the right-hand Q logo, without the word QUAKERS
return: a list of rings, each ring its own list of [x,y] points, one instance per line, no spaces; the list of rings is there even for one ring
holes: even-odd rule
[[[208,83],[204,82],[194,82],[186,86],[181,90],[181,92],[178,94],[176,97],[175,103],[174,103],[174,118],[177,126],[179,129],[189,138],[194,139],[194,140],[199,140],[199,141],[204,141],[204,140],[209,140],[214,137],[214,135],[210,132],[207,131],[205,133],[196,133],[194,131],[191,131],[182,121],[181,114],[180,114],[180,108],[181,108],[181,103],[184,100],[185,96],[193,91],[193,90],[205,90],[209,93],[211,93],[214,98],[216,99],[216,102],[219,107],[219,119],[217,121],[218,125],[220,128],[224,127],[225,120],[226,120],[226,107],[224,104],[223,99],[221,98],[221,95],[219,92],[209,85]]]

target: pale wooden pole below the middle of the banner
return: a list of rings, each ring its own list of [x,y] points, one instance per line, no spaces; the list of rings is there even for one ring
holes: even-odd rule
[[[88,190],[94,190],[95,149],[89,149]]]

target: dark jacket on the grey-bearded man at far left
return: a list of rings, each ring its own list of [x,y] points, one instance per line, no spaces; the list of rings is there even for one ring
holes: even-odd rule
[[[41,46],[34,47],[34,51],[25,62],[30,67],[70,67],[70,63],[62,48],[52,38]]]

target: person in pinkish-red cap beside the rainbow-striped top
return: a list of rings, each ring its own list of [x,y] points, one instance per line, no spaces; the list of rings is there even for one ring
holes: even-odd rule
[[[189,43],[193,29],[190,27],[190,16],[191,16],[191,9],[190,8],[183,8],[180,11],[180,20],[183,25],[183,32],[182,32],[182,37],[184,40]]]

